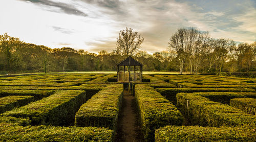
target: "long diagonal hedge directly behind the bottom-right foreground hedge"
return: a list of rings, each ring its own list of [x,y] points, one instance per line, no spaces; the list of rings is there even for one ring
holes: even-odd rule
[[[176,106],[192,125],[256,128],[256,116],[193,93],[178,93]]]

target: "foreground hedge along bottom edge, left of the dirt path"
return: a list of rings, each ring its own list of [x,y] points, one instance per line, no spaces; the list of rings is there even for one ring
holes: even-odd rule
[[[0,141],[112,141],[113,131],[96,127],[10,126],[0,123]]]

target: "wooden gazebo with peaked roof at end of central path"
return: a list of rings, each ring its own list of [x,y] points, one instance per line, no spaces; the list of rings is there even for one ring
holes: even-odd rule
[[[123,70],[120,71],[120,66]],[[140,66],[140,70],[136,71],[136,66]],[[117,82],[132,83],[142,82],[142,66],[143,64],[129,56],[117,64]],[[127,67],[127,71],[125,70]],[[132,69],[131,69],[132,68]],[[133,70],[133,72],[132,72]]]

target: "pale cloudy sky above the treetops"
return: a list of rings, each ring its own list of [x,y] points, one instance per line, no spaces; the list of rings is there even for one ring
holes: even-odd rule
[[[1,0],[0,13],[1,35],[52,49],[111,52],[126,27],[144,38],[141,49],[151,54],[167,50],[179,28],[256,41],[256,0]]]

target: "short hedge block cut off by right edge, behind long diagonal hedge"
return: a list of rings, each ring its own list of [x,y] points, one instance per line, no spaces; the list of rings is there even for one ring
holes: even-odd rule
[[[255,96],[256,96],[256,94],[255,94]],[[234,99],[230,100],[230,106],[239,108],[246,113],[256,115],[256,99],[234,98]]]

